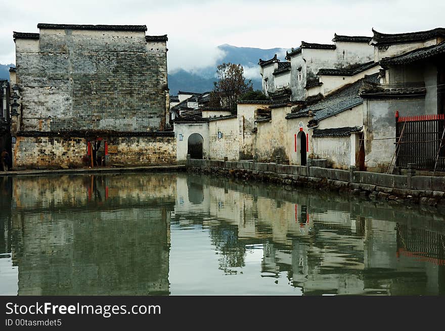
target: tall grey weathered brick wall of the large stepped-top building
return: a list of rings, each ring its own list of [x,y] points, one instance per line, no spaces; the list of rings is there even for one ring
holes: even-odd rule
[[[40,29],[37,40],[16,39],[21,130],[162,130],[166,58],[165,41],[143,31]]]

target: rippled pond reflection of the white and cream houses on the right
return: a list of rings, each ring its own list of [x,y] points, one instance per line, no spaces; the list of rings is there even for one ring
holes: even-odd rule
[[[226,273],[243,266],[246,246],[262,245],[261,275],[279,278],[284,273],[304,294],[443,293],[444,267],[438,253],[428,255],[438,265],[426,258],[419,264],[412,256],[407,260],[412,251],[399,249],[395,227],[418,218],[410,210],[192,177],[178,178],[178,196],[184,200],[176,204],[174,220],[210,229],[215,250],[222,255],[220,269]],[[194,180],[202,185],[201,194],[193,193],[202,197],[199,205],[188,197],[186,185]],[[437,251],[437,238],[429,246],[435,251],[428,252]]]

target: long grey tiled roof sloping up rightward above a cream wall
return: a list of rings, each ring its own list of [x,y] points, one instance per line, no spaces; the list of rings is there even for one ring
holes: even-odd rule
[[[367,76],[357,82],[344,86],[329,94],[320,102],[307,106],[296,113],[288,114],[286,119],[304,117],[312,114],[315,120],[320,121],[354,106],[358,106],[363,103],[359,91],[365,81],[377,82],[378,74]]]

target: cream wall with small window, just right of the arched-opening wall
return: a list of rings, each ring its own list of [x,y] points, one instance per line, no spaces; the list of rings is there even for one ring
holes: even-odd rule
[[[218,138],[218,132],[222,137]],[[237,161],[239,158],[238,119],[213,120],[209,122],[210,149],[212,160]]]

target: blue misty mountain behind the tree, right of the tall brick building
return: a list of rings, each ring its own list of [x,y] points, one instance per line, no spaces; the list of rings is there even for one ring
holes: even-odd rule
[[[218,48],[224,52],[225,56],[218,61],[241,64],[244,67],[244,76],[252,80],[254,89],[261,89],[261,78],[259,76],[258,60],[269,60],[278,54],[280,60],[284,60],[286,49],[275,48],[262,50],[251,47],[237,47],[228,44],[220,45]],[[185,70],[175,71],[168,74],[168,87],[170,94],[176,95],[177,91],[205,92],[213,89],[213,82],[216,81],[216,65],[199,69],[196,73]]]

